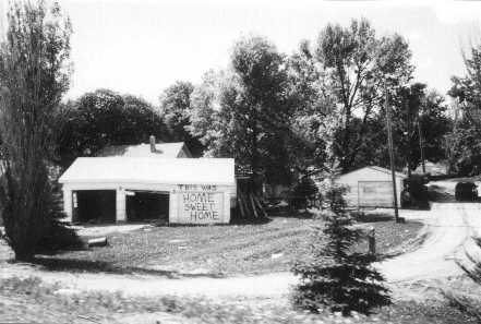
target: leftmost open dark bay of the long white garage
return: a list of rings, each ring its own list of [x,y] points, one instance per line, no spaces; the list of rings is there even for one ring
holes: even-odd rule
[[[115,223],[115,190],[79,190],[73,192],[74,221]]]

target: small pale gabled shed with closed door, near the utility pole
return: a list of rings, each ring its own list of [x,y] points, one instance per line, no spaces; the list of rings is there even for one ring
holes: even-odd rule
[[[406,176],[396,172],[397,202],[400,206],[400,195]],[[390,170],[370,166],[341,175],[337,180],[347,187],[346,202],[356,207],[394,207],[393,176]]]

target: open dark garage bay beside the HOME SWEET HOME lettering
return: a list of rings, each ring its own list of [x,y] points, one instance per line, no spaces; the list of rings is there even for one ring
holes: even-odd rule
[[[169,220],[169,194],[156,191],[127,190],[127,220]]]

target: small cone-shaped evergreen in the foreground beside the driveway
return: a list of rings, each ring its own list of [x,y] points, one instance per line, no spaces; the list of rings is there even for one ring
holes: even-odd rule
[[[375,256],[350,252],[361,232],[351,227],[344,192],[332,185],[325,194],[333,213],[324,228],[315,229],[311,254],[294,264],[293,273],[301,280],[292,299],[297,308],[314,313],[327,308],[342,315],[370,314],[373,308],[389,304],[390,298],[381,285],[382,275],[371,266]]]

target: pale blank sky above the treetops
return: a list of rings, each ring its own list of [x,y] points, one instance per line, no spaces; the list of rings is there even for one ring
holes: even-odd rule
[[[68,98],[96,88],[154,105],[178,80],[199,83],[229,64],[233,43],[263,35],[292,53],[328,23],[371,21],[409,43],[416,81],[445,94],[465,73],[462,49],[481,39],[481,1],[60,0],[70,15],[74,73]],[[3,4],[2,4],[3,3]],[[0,0],[5,11],[7,0]],[[4,16],[4,15],[2,15]],[[0,29],[4,28],[4,20]]]

